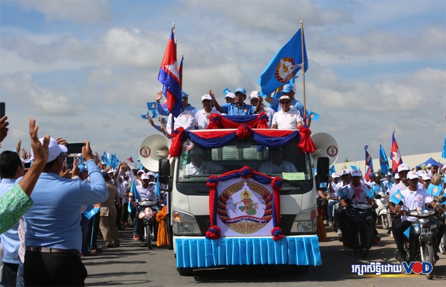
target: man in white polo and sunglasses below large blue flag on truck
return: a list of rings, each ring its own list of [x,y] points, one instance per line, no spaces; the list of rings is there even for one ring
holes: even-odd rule
[[[279,130],[297,130],[302,126],[303,118],[298,110],[291,109],[291,100],[287,95],[280,97],[281,110],[277,111],[273,116],[272,129]]]

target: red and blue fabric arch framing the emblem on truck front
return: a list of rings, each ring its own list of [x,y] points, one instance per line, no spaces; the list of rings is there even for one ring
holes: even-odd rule
[[[211,227],[206,231],[206,238],[218,239],[220,238],[220,228],[216,226],[217,222],[217,185],[219,181],[225,181],[233,178],[252,178],[261,184],[271,184],[273,188],[273,230],[271,234],[274,240],[279,240],[285,235],[280,228],[280,187],[282,187],[282,180],[280,177],[270,177],[265,174],[253,171],[249,166],[243,166],[239,170],[224,173],[220,176],[209,176],[207,185],[209,187],[209,217]]]

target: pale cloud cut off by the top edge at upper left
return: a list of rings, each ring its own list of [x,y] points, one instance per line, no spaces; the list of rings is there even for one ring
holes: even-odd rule
[[[112,12],[107,1],[20,1],[21,6],[33,9],[45,15],[48,21],[71,20],[80,24],[95,24],[111,19]]]

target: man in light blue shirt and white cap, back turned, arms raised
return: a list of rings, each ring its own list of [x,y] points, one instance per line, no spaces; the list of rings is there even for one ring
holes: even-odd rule
[[[59,176],[67,149],[50,139],[47,165],[31,195],[34,205],[24,215],[27,286],[84,285],[87,271],[79,257],[82,247],[80,207],[103,202],[108,197],[90,142],[84,142],[82,157],[90,183]]]

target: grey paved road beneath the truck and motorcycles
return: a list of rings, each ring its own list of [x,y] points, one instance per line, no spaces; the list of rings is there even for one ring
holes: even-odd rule
[[[331,229],[327,229],[330,231]],[[327,232],[327,242],[320,243],[322,266],[310,268],[307,274],[296,274],[294,269],[269,266],[211,269],[194,271],[193,276],[180,276],[176,272],[173,251],[147,250],[131,239],[129,229],[120,231],[121,247],[104,249],[95,256],[83,257],[88,270],[86,286],[445,286],[446,256],[434,267],[434,279],[424,275],[406,275],[399,278],[384,276],[359,277],[352,275],[351,265],[381,261],[396,264],[393,238],[382,233],[382,241],[372,247],[367,260],[352,255],[338,242],[335,232]],[[98,241],[99,242],[99,241]]]

